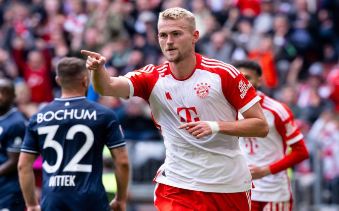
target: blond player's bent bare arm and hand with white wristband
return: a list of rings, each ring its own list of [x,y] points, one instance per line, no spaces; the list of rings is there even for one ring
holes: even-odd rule
[[[246,112],[242,113],[244,120],[234,122],[217,122],[218,133],[240,137],[266,137],[269,133],[269,126],[262,113],[259,102],[255,103]],[[178,129],[189,128],[189,132],[197,139],[211,135],[212,130],[205,121],[190,122],[181,125]]]

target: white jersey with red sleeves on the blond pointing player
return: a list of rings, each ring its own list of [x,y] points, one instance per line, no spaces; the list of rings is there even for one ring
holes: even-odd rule
[[[196,54],[197,65],[177,79],[169,63],[148,65],[125,75],[129,97],[149,103],[166,147],[165,163],[155,181],[206,192],[243,192],[251,175],[238,137],[213,134],[196,139],[178,126],[193,121],[236,121],[260,100],[248,80],[233,66]]]

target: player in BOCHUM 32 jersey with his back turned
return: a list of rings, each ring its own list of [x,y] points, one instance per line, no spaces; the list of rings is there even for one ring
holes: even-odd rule
[[[27,209],[40,210],[32,165],[42,154],[42,210],[125,211],[129,161],[119,120],[86,99],[90,74],[84,60],[63,58],[56,71],[61,98],[30,118],[21,148],[18,170]],[[102,185],[104,145],[116,167],[118,191],[110,204]]]

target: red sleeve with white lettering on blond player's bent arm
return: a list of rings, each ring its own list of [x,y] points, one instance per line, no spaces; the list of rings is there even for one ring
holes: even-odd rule
[[[222,92],[233,107],[243,113],[260,100],[252,84],[233,66],[232,70],[238,74],[228,74],[223,71],[221,75]]]

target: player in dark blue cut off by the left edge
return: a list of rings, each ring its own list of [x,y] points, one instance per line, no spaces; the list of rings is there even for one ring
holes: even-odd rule
[[[25,201],[17,172],[25,118],[13,107],[14,84],[0,79],[0,210],[23,211]]]

